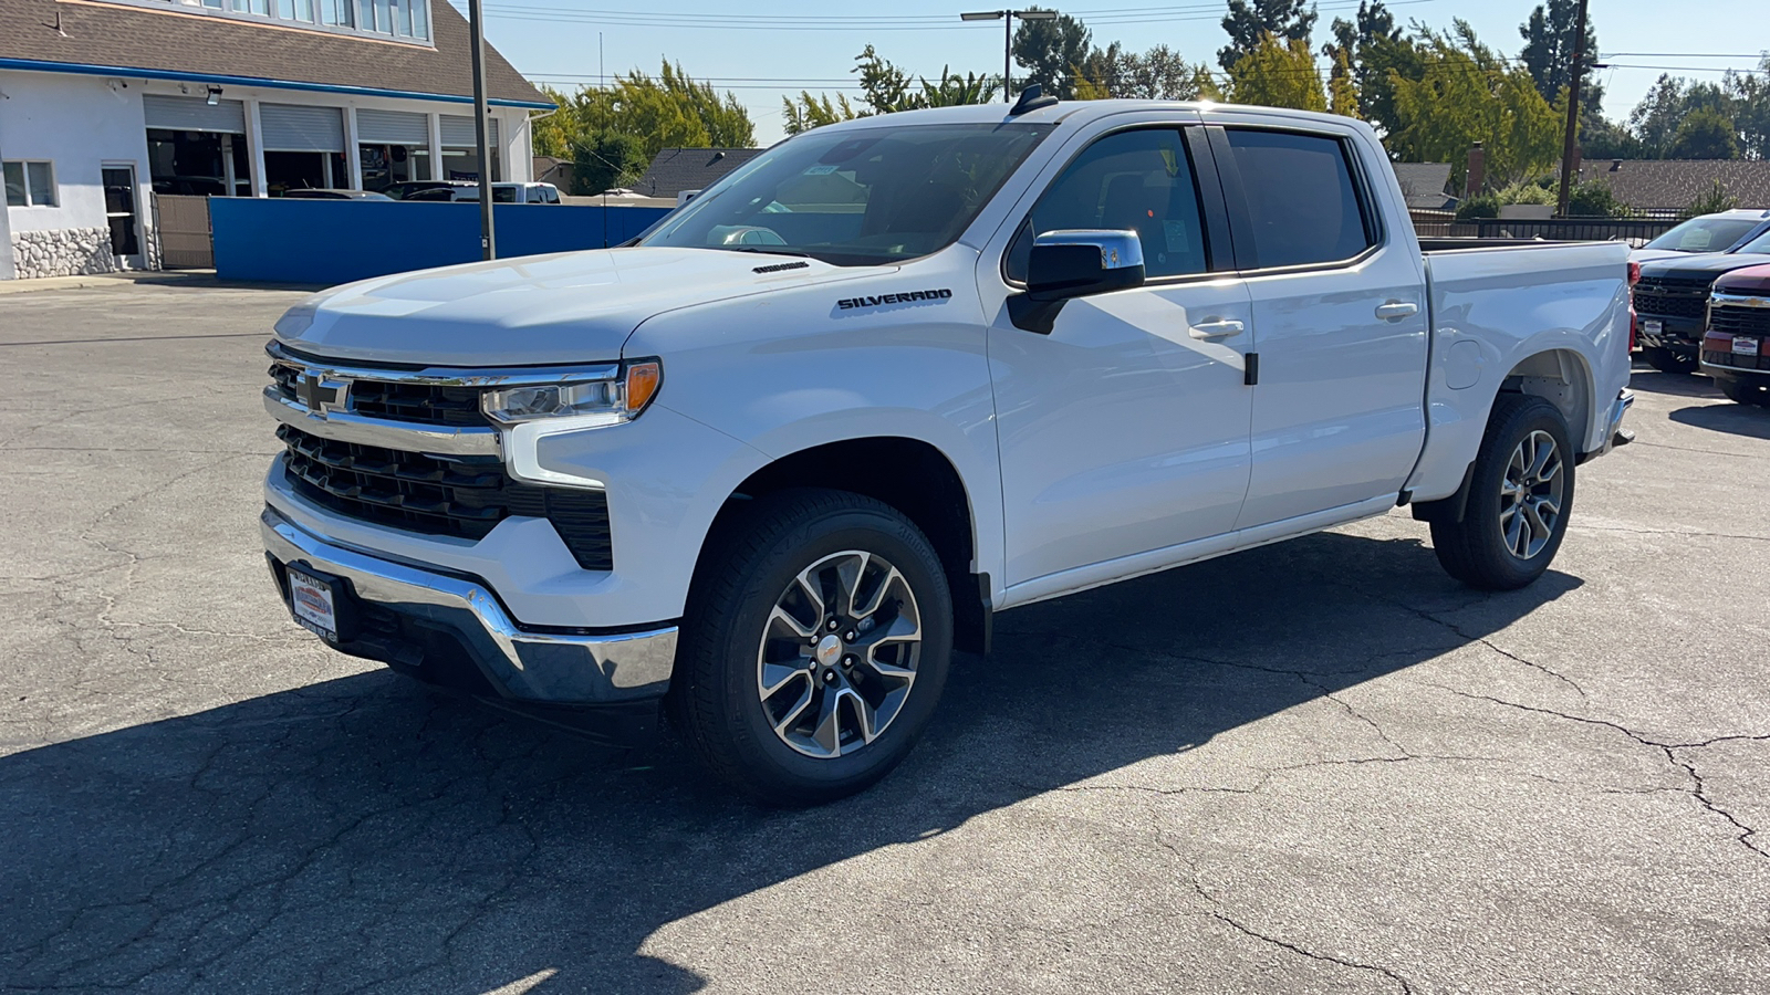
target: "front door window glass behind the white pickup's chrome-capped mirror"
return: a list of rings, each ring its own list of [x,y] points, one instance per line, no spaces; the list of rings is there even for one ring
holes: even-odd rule
[[[1073,228],[1136,232],[1150,280],[1209,269],[1198,184],[1181,133],[1120,131],[1089,145],[1051,181],[1014,235],[1009,280],[1027,280],[1035,235]]]

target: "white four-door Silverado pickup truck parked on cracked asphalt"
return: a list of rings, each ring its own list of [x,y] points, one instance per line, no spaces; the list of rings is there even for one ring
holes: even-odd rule
[[[264,542],[345,653],[828,800],[1004,609],[1409,503],[1536,579],[1625,437],[1628,250],[1425,250],[1340,117],[818,127],[628,246],[290,310]]]

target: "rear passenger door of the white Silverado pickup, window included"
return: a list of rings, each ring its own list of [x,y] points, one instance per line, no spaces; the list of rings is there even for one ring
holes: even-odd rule
[[[1420,248],[1352,129],[1207,115],[1258,329],[1237,528],[1398,494],[1425,443]]]

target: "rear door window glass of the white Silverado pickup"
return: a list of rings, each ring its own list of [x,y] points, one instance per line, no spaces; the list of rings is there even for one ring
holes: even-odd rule
[[[1340,262],[1375,243],[1338,138],[1230,129],[1228,147],[1262,269]]]

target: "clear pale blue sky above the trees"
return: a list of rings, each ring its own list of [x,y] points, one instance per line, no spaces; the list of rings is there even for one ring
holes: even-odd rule
[[[466,9],[466,0],[451,2]],[[657,73],[669,57],[692,76],[736,94],[750,110],[763,145],[781,138],[782,94],[802,89],[858,94],[848,71],[867,42],[919,74],[938,76],[942,66],[959,73],[1002,71],[1002,23],[965,25],[958,18],[959,11],[988,9],[977,0],[485,0],[485,5],[487,37],[531,80],[563,89],[595,85],[604,71]],[[1043,0],[1041,5],[1081,18],[1101,46],[1119,41],[1143,50],[1161,42],[1214,67],[1216,50],[1227,41],[1220,25],[1223,0]],[[1388,2],[1398,21],[1448,27],[1462,16],[1483,41],[1510,55],[1517,55],[1519,25],[1535,5],[1536,0]],[[1358,2],[1317,0],[1317,9],[1320,44],[1333,18],[1351,18]],[[1756,53],[1770,50],[1765,9],[1765,0],[1591,0],[1600,55],[1616,64],[1598,73],[1605,113],[1625,119],[1662,71],[1719,80],[1720,69],[1756,66]]]

